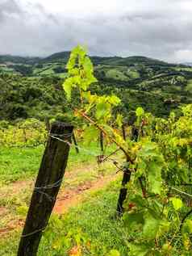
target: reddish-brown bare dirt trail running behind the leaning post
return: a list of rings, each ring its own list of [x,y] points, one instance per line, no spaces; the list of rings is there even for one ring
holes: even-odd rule
[[[90,170],[93,170],[95,166],[84,166],[81,170],[78,169],[74,172],[68,172],[65,174],[66,180],[72,180],[75,179],[76,175],[83,171],[84,174],[90,172]],[[77,186],[69,187],[67,184],[64,187],[61,187],[61,190],[59,194],[57,195],[56,204],[53,208],[52,213],[61,215],[65,214],[69,210],[69,208],[73,208],[79,204],[83,204],[83,200],[86,198],[86,195],[88,195],[91,192],[99,191],[104,187],[107,187],[112,181],[117,179],[118,174],[116,174],[114,171],[110,174],[99,174],[95,175],[94,179],[87,179],[82,180],[81,183],[77,184]],[[6,191],[3,194],[3,191],[0,190],[0,199],[2,196],[9,197],[11,195],[18,194],[20,195],[25,191],[26,187],[31,192],[34,187],[34,180],[28,180],[28,181],[19,181],[10,184],[8,191]],[[65,183],[64,183],[65,184]],[[9,208],[7,207],[0,207],[0,218],[3,216],[9,216]],[[10,217],[10,220],[7,221],[3,227],[0,228],[0,236],[6,237],[10,232],[15,230],[21,230],[23,228],[25,222],[25,217],[17,218],[15,216]]]

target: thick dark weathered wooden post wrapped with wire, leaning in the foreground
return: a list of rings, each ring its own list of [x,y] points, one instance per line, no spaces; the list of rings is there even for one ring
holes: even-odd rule
[[[37,254],[42,232],[48,225],[65,174],[72,133],[72,125],[61,122],[52,124],[20,239],[18,256]]]

